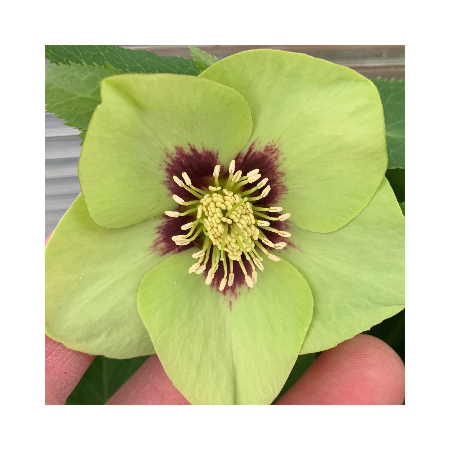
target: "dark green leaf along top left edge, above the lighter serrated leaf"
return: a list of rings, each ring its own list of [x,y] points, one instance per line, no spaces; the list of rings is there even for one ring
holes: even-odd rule
[[[52,64],[108,64],[122,72],[198,75],[192,59],[164,58],[147,50],[123,49],[118,45],[45,45],[45,58]]]

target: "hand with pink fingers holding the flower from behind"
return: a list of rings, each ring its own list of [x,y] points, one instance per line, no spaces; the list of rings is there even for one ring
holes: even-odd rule
[[[94,357],[45,336],[45,404],[64,405]],[[404,399],[405,365],[400,357],[382,340],[359,334],[323,351],[277,405],[401,405]],[[152,355],[107,405],[189,402]]]

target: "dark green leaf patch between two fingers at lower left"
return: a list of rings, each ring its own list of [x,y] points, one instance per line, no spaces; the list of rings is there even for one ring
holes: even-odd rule
[[[67,398],[66,405],[104,405],[147,358],[114,360],[97,356]]]

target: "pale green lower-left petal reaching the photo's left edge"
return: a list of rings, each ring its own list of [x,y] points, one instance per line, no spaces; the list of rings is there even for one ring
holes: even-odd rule
[[[80,195],[45,249],[45,333],[73,350],[110,358],[154,353],[136,306],[143,275],[163,257],[149,251],[154,218],[121,229],[95,225]]]

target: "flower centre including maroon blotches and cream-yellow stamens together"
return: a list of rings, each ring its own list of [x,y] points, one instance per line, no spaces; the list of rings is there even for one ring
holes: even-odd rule
[[[280,215],[276,206],[287,192],[279,147],[255,141],[225,162],[218,151],[177,146],[166,153],[163,170],[178,208],[166,211],[153,250],[191,250],[189,272],[234,297],[244,284],[252,288],[264,259],[279,261],[276,253],[290,237],[285,222],[290,214]]]

